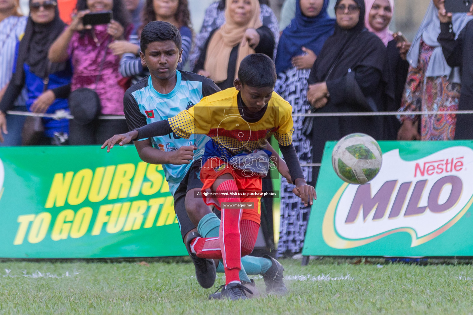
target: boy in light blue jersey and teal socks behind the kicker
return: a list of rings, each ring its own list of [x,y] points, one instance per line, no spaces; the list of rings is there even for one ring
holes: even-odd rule
[[[124,113],[130,130],[155,121],[174,117],[189,109],[205,96],[220,89],[210,79],[200,75],[176,70],[181,62],[181,38],[175,26],[167,22],[151,22],[141,33],[141,63],[147,66],[150,76],[131,86],[124,96]],[[144,162],[162,164],[174,196],[174,208],[183,240],[196,232],[197,225],[205,225],[204,237],[218,237],[220,220],[211,212],[201,197],[201,155],[210,138],[193,135],[189,139],[175,134],[163,137],[144,138],[135,141],[136,149]],[[103,146],[104,148],[105,146]],[[210,288],[216,278],[216,267],[212,260],[189,254],[195,265],[196,277],[203,288]],[[246,256],[242,258],[242,281],[250,282],[245,269],[251,274],[262,274],[268,291],[282,291],[282,266],[274,259]],[[223,265],[217,268],[223,272]],[[276,281],[276,282],[275,282]],[[282,286],[281,286],[282,284]],[[251,289],[254,288],[250,282]]]

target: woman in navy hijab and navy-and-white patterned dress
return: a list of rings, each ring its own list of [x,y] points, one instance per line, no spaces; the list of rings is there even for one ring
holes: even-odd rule
[[[281,34],[276,54],[278,81],[276,92],[292,106],[293,114],[310,109],[307,79],[325,40],[333,34],[335,20],[327,13],[329,0],[297,0],[296,17]],[[312,162],[310,139],[302,133],[303,117],[294,117],[293,143],[301,164]],[[312,178],[311,168],[302,167]],[[278,256],[294,255],[302,250],[310,206],[293,198],[294,185],[281,183],[281,223]]]

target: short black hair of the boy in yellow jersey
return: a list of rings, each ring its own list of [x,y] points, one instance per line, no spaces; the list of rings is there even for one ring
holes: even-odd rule
[[[266,87],[276,85],[276,67],[272,59],[262,53],[246,56],[240,63],[238,79],[243,85]]]

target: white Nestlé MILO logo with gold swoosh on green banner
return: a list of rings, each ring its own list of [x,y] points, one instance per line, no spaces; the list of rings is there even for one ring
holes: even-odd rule
[[[344,183],[333,196],[323,221],[325,243],[353,248],[407,232],[415,247],[436,238],[473,203],[472,163],[473,150],[465,146],[414,161],[404,161],[398,149],[385,153],[375,179]]]

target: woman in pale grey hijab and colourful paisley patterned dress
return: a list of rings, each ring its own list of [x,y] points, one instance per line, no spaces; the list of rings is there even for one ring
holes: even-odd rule
[[[399,111],[458,109],[461,87],[459,69],[447,65],[442,47],[437,41],[440,34],[438,8],[443,5],[442,0],[430,2],[407,54],[410,67]],[[471,17],[467,17],[466,13],[456,13],[453,19],[455,34],[459,34]],[[455,136],[455,115],[403,115],[399,116],[399,120],[402,126],[398,140],[453,140]]]

